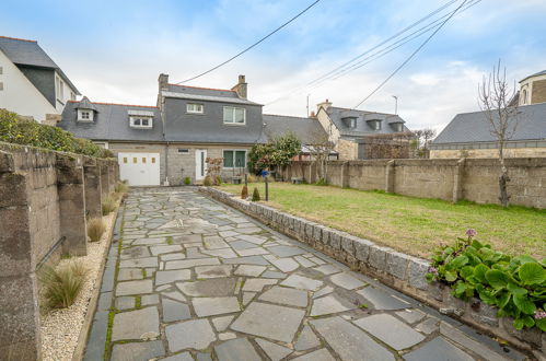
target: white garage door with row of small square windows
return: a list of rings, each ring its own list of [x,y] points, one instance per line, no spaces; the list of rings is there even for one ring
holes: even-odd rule
[[[119,177],[131,186],[160,185],[160,153],[118,153]]]

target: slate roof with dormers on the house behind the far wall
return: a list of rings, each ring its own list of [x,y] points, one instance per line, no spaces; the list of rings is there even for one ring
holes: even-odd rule
[[[367,110],[356,110],[356,109],[347,109],[330,106],[327,109],[327,114],[336,128],[339,130],[341,136],[350,136],[350,137],[365,137],[370,135],[384,135],[384,133],[394,133],[396,132],[392,127],[388,127],[386,124],[395,124],[395,123],[406,123],[398,115],[395,114],[386,114],[386,113],[374,113]],[[345,121],[345,118],[357,118],[357,127],[350,128]],[[384,124],[381,127],[381,130],[374,130],[369,124],[369,120],[383,120]],[[385,124],[386,123],[386,124]],[[404,131],[408,131],[409,129],[404,126]]]

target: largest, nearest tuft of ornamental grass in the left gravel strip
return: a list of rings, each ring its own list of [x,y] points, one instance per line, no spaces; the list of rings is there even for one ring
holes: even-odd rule
[[[47,306],[63,308],[72,305],[83,286],[85,272],[85,267],[77,261],[57,268],[43,266],[38,271],[38,280]]]

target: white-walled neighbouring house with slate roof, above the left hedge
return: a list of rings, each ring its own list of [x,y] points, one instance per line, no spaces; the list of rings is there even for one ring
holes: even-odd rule
[[[0,108],[55,124],[77,95],[78,89],[37,42],[0,36]]]

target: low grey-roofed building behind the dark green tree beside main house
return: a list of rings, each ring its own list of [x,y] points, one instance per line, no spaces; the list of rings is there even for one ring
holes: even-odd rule
[[[286,115],[264,114],[264,133],[267,140],[275,137],[293,133],[300,139],[302,148],[294,156],[297,160],[311,160],[314,145],[325,144],[328,133],[316,117],[292,117]],[[330,159],[337,159],[337,152],[330,152]]]

